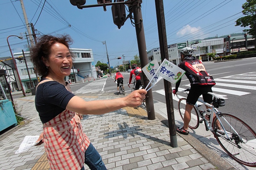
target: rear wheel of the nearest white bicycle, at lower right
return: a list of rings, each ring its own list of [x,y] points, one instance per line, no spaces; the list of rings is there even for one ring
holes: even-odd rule
[[[235,161],[248,167],[256,167],[256,134],[254,130],[236,116],[221,113],[219,118],[223,125],[222,128],[226,130],[231,139],[226,139],[224,130],[217,130],[222,128],[220,128],[220,123],[215,117],[213,127],[215,131],[217,130],[217,132],[222,134],[215,134],[215,138],[220,146]]]

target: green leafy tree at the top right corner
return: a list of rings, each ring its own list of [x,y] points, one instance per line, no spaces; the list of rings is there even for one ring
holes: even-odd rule
[[[241,27],[250,26],[250,29],[244,29],[243,31],[254,36],[255,38],[256,37],[256,1],[246,0],[246,2],[242,5],[242,8],[243,8],[242,13],[245,16],[236,20],[236,26],[241,26]],[[255,42],[256,42],[256,38],[255,38]]]

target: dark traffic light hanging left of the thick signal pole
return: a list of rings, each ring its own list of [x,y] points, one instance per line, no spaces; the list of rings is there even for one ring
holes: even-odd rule
[[[123,2],[124,0],[116,0],[116,2]],[[120,29],[126,20],[125,5],[112,5],[112,16],[114,24]]]

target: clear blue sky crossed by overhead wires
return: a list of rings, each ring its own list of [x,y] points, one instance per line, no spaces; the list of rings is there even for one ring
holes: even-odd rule
[[[163,0],[167,43],[242,33],[244,28],[235,26],[235,21],[243,16],[242,4],[245,2],[246,0]],[[121,64],[122,56],[125,60],[132,60],[135,55],[139,55],[135,27],[128,19],[118,29],[113,23],[111,6],[107,6],[107,11],[104,12],[103,7],[78,9],[69,0],[23,0],[23,3],[28,22],[34,24],[37,33],[69,34],[74,40],[70,47],[92,49],[95,63],[107,63],[106,45],[103,41],[107,44],[110,66]],[[96,0],[87,0],[85,5],[96,3]],[[141,5],[149,51],[159,47],[155,1],[143,0]],[[25,35],[26,31],[20,1],[1,0],[0,16],[0,57],[7,57],[11,56],[7,36],[20,33]],[[26,39],[9,37],[8,40],[13,53],[27,50]]]

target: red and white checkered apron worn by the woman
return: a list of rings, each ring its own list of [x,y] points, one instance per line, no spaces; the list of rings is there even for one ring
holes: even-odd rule
[[[71,92],[69,84],[66,88]],[[43,124],[44,146],[52,170],[80,170],[83,167],[90,141],[83,133],[80,116],[66,109]]]

